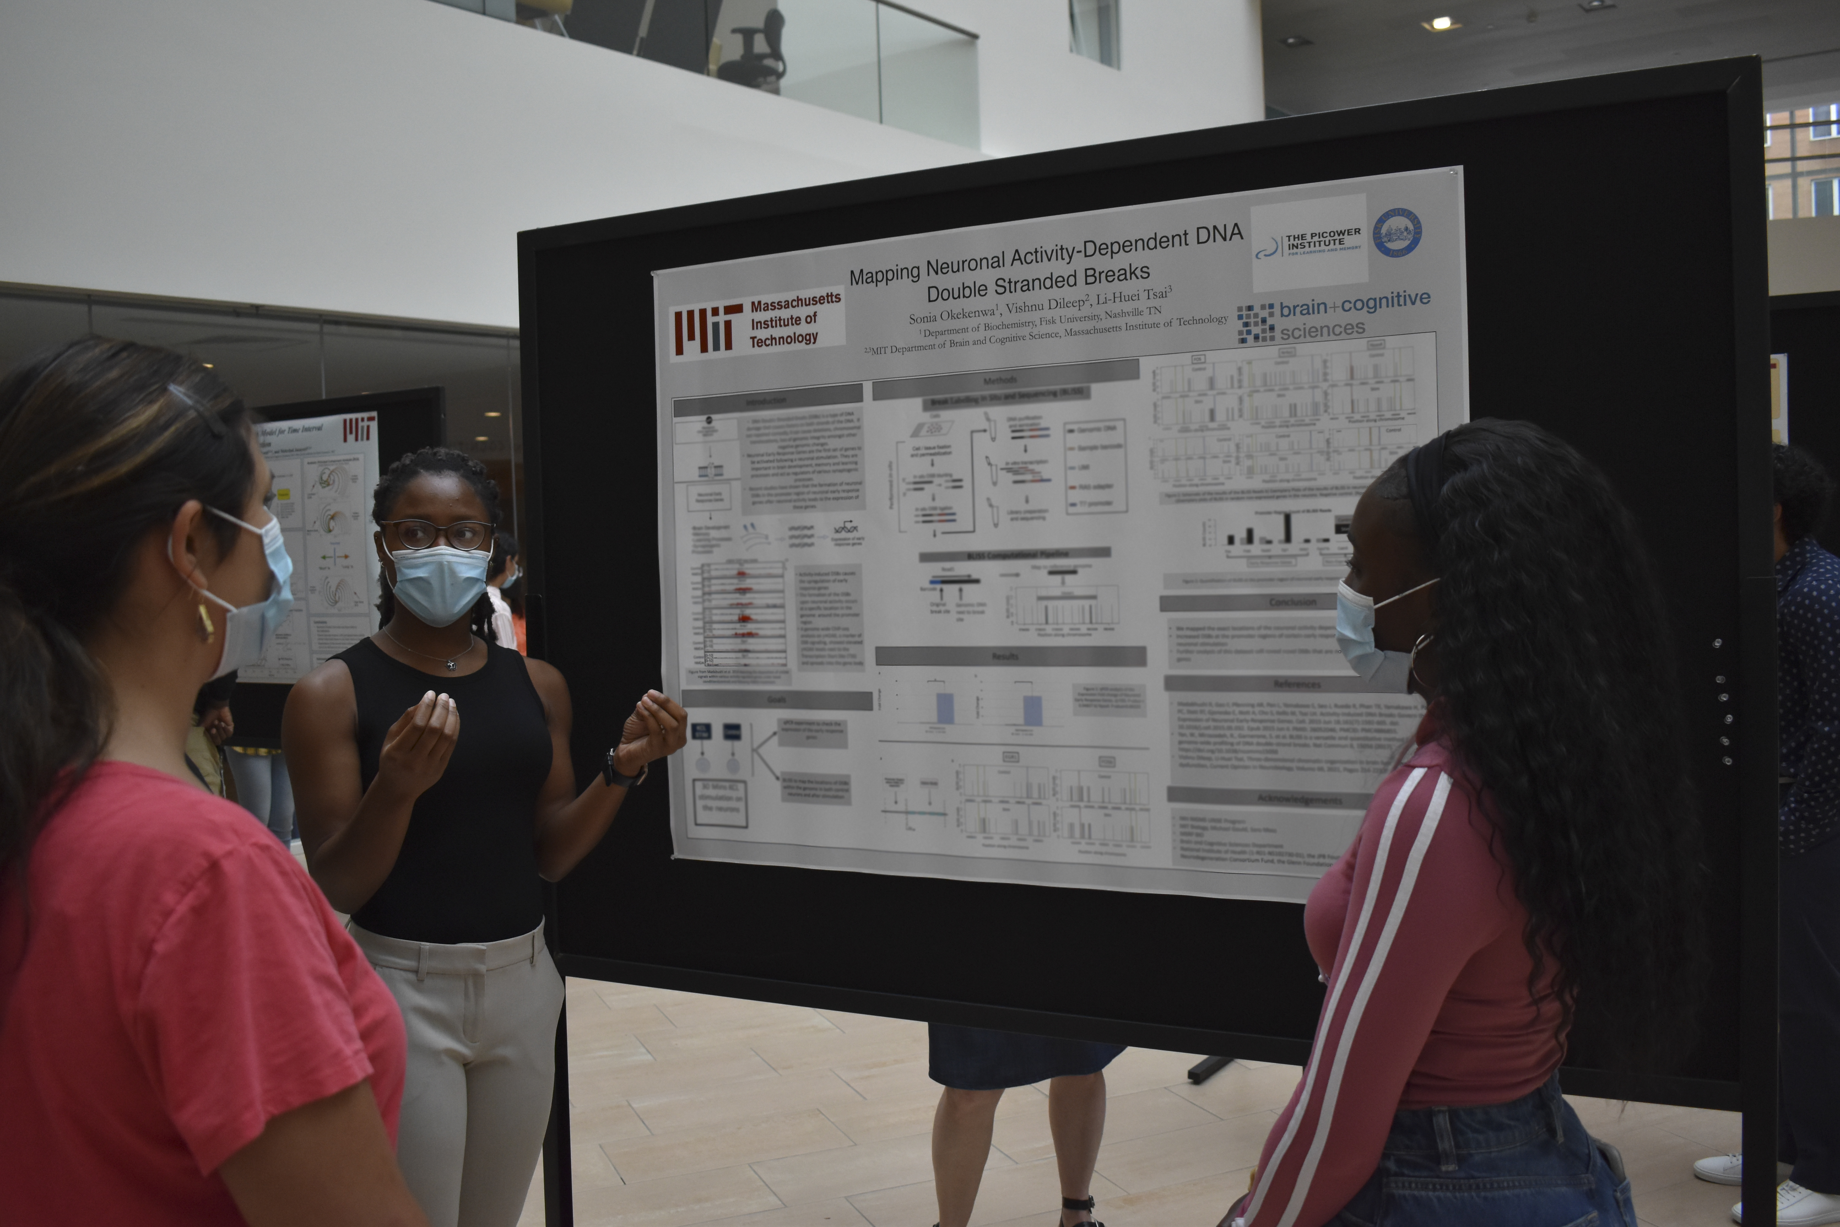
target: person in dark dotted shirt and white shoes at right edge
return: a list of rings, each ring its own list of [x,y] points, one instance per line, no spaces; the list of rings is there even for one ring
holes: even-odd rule
[[[1834,482],[1807,449],[1774,449],[1776,686],[1781,712],[1777,916],[1781,1115],[1776,1221],[1840,1223],[1840,557],[1814,541]],[[1783,1170],[1790,1164],[1792,1170]],[[1739,1155],[1693,1164],[1715,1185]],[[1741,1207],[1731,1218],[1744,1221]]]

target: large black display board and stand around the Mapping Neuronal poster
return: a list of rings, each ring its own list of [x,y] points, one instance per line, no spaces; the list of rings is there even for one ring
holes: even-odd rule
[[[1525,418],[1570,440],[1636,515],[1673,613],[1717,876],[1696,1050],[1665,1076],[1601,1067],[1592,1036],[1617,1019],[1586,1001],[1562,1078],[1581,1095],[1741,1109],[1746,1152],[1774,1153],[1761,121],[1759,63],[1733,59],[519,235],[532,644],[574,690],[578,778],[661,681],[651,270],[1463,166],[1472,416]],[[1295,905],[679,861],[668,819],[664,787],[637,789],[602,848],[552,892],[563,973],[1271,1061],[1308,1052],[1321,986]],[[1041,938],[1047,918],[1054,940]],[[1034,935],[1029,957],[983,940],[990,931]],[[1106,992],[1069,993],[1091,966],[1106,968]],[[550,1223],[572,1221],[567,1130],[559,1030]],[[1744,1201],[1752,1221],[1774,1221],[1768,1163],[1746,1170]]]

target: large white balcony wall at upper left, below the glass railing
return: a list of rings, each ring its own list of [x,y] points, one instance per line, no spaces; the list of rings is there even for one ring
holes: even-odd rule
[[[0,4],[0,281],[517,324],[517,232],[970,149],[429,0]]]

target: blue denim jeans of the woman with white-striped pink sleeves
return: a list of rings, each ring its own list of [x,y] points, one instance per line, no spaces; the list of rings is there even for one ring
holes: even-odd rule
[[[1330,1227],[1636,1227],[1614,1153],[1579,1124],[1558,1074],[1511,1104],[1398,1111],[1380,1166]]]

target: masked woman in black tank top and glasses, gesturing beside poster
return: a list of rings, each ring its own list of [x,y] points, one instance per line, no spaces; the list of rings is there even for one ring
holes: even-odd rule
[[[300,839],[403,1010],[410,1192],[432,1227],[512,1227],[548,1122],[563,1001],[539,879],[600,843],[688,717],[648,692],[605,774],[576,795],[569,684],[489,631],[499,487],[484,465],[445,447],[403,456],[372,517],[383,631],[287,701]]]

